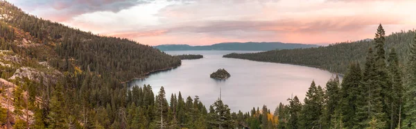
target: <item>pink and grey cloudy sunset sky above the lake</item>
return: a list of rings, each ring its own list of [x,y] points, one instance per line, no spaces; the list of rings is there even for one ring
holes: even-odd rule
[[[25,12],[140,44],[331,44],[413,30],[414,0],[9,0]]]

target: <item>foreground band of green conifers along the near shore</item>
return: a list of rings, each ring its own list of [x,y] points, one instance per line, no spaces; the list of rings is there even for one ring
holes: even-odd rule
[[[206,107],[199,97],[184,98],[164,87],[124,87],[116,78],[94,72],[69,74],[56,85],[15,81],[15,114],[34,110],[35,123],[17,119],[19,128],[415,128],[416,35],[402,74],[395,49],[385,51],[384,31],[377,29],[374,50],[367,49],[364,67],[351,62],[342,83],[338,76],[326,87],[311,83],[303,103],[288,98],[275,112],[266,105],[250,112],[231,112],[217,100]],[[386,54],[387,53],[387,54]],[[24,83],[19,83],[24,82]],[[36,89],[42,88],[42,89]],[[22,92],[28,92],[23,96]],[[42,102],[35,97],[42,97]],[[0,115],[0,116],[5,116]],[[3,118],[0,118],[3,119]]]

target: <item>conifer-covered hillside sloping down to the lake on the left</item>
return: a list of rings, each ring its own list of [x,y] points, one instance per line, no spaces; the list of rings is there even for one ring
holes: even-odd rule
[[[30,41],[31,44],[36,44],[35,46],[40,48],[49,47],[55,50],[58,56],[36,53],[35,50],[33,50],[35,53],[29,50],[19,52],[40,61],[48,61],[53,67],[62,71],[80,67],[83,71],[108,74],[125,81],[150,71],[180,65],[178,58],[161,53],[157,49],[153,49],[152,46],[137,44],[137,42],[128,39],[93,35],[27,15],[9,3],[1,2],[0,4],[2,24],[8,24],[12,28],[19,28],[29,33],[33,37]],[[13,45],[20,43],[15,42],[15,39],[12,38],[12,36],[8,36],[4,40],[12,42],[9,43],[10,46],[17,49],[20,46]],[[60,62],[60,60],[64,60],[64,62]],[[74,66],[69,62],[73,62]]]

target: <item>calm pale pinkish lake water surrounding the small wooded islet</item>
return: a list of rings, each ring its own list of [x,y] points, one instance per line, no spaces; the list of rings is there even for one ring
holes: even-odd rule
[[[146,79],[133,80],[130,85],[151,85],[157,94],[164,87],[166,97],[179,91],[187,96],[199,96],[202,103],[209,107],[218,99],[220,87],[221,99],[232,111],[248,112],[252,107],[267,105],[273,111],[279,102],[287,104],[287,98],[298,96],[303,102],[306,91],[315,80],[324,86],[333,76],[329,71],[270,62],[222,58],[227,53],[250,53],[255,51],[166,51],[171,55],[201,54],[198,60],[182,60],[182,66],[169,71],[151,74]],[[209,78],[217,69],[226,69],[231,77],[225,81]],[[186,100],[185,100],[186,101]]]

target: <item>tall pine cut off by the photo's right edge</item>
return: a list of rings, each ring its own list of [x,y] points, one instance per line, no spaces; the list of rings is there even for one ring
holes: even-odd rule
[[[402,127],[410,129],[416,128],[416,35],[412,44],[410,44],[410,55],[406,69],[408,71],[406,78],[406,101],[404,104],[406,117]]]

